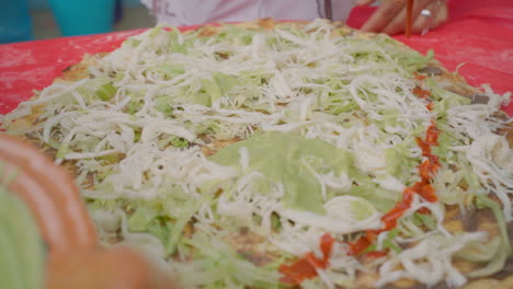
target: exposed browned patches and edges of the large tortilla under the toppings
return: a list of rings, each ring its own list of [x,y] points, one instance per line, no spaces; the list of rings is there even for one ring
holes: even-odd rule
[[[258,22],[248,22],[237,24],[238,26],[244,27],[247,30],[255,30],[264,27],[266,30],[273,30],[276,25],[272,20],[261,20]],[[301,25],[301,24],[297,24]],[[341,25],[340,23],[334,23],[333,25],[338,26],[338,33],[342,35],[353,35],[358,38],[372,38],[374,34],[362,33],[358,31],[351,30],[346,26]],[[218,34],[225,30],[225,26],[204,26],[201,27],[200,36],[210,36]],[[89,66],[94,65],[96,61],[101,61],[103,55],[96,55],[87,57],[82,62],[67,68],[62,72],[61,79],[59,81],[78,81],[81,79],[89,78]],[[423,69],[423,72],[434,76],[437,81],[444,82],[449,86],[449,90],[470,97],[474,102],[488,102],[487,96],[482,95],[479,90],[469,86],[465,83],[465,80],[456,73],[448,72],[443,67],[440,67],[436,63],[430,65]],[[24,128],[31,127],[39,124],[39,115],[44,112],[44,106],[33,109],[32,114],[23,118],[16,119],[8,130],[25,130]],[[506,115],[501,115],[500,117],[508,117]],[[498,134],[508,135],[508,140],[510,142],[510,148],[513,148],[513,126],[510,128],[501,129],[497,131]],[[25,136],[29,141],[35,141],[37,144],[41,144],[37,140],[33,139],[31,136]],[[214,140],[214,146],[204,148],[205,154],[213,154],[217,149],[227,147],[233,142],[237,142],[237,139],[228,141],[217,141]],[[42,147],[45,149],[45,147]],[[46,149],[47,153],[55,158],[56,151],[53,149]],[[64,164],[68,170],[77,174],[73,163],[66,162]],[[456,206],[447,207],[445,227],[451,232],[459,231],[486,231],[490,236],[499,235],[499,228],[497,226],[495,219],[490,210],[469,210],[463,215]],[[513,223],[509,223],[508,232],[510,234],[510,240],[513,238]],[[248,231],[241,231],[238,235],[231,238],[230,242],[239,253],[243,254],[252,263],[259,265],[264,264],[271,259],[274,259],[274,256],[261,254],[255,250],[256,245],[262,242],[258,235],[251,234]],[[467,262],[457,262],[456,267],[458,267],[463,273],[470,271],[478,266],[472,263]],[[500,271],[490,276],[489,278],[470,280],[464,288],[513,288],[513,258],[509,257],[505,267]],[[355,281],[356,288],[372,288],[373,284],[377,279],[377,274],[375,273],[358,273],[358,276]],[[388,285],[385,288],[423,288],[422,285],[415,284],[410,280],[399,280],[392,285]],[[445,282],[441,282],[434,288],[448,288]]]

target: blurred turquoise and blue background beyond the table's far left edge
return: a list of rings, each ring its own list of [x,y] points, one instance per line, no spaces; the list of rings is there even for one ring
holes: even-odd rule
[[[0,0],[0,44],[155,25],[140,0]]]

